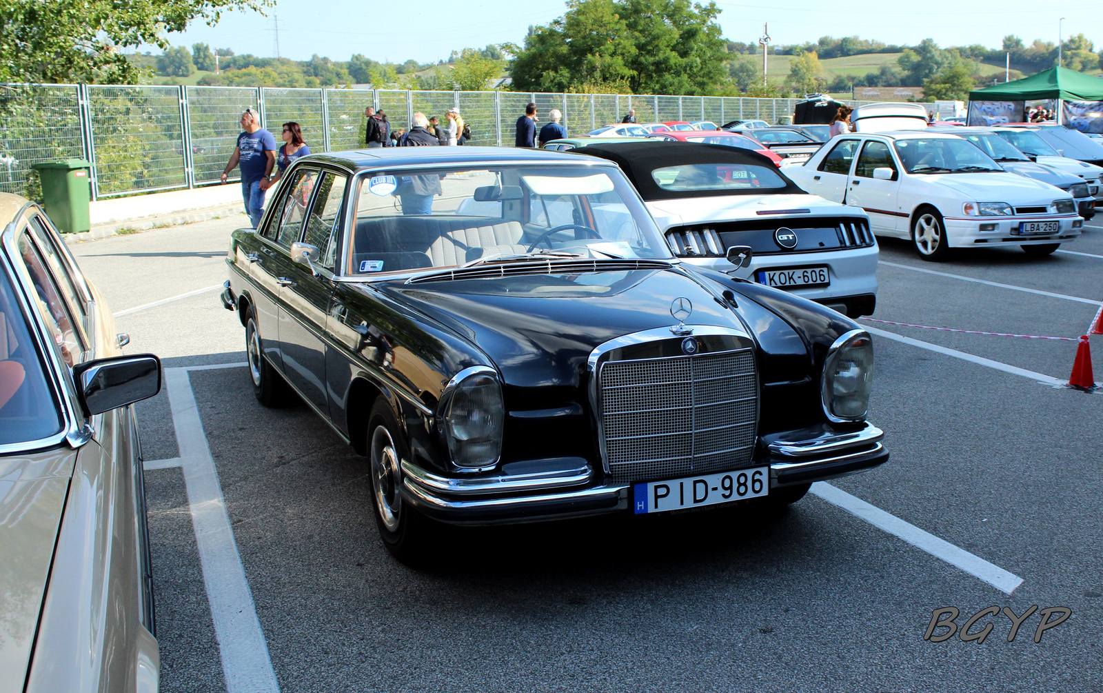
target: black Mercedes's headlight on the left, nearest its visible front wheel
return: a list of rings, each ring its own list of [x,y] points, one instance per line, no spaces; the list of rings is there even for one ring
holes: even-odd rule
[[[490,467],[502,455],[505,405],[497,374],[486,366],[464,369],[441,398],[445,437],[458,467]]]

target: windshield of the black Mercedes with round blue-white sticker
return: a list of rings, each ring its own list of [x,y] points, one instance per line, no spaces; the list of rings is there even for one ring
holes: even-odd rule
[[[608,167],[377,171],[361,178],[346,271],[375,275],[495,259],[667,258],[651,215]]]

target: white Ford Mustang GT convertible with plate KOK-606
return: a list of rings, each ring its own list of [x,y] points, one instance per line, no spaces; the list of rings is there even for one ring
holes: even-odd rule
[[[684,262],[748,278],[852,318],[877,303],[877,241],[869,215],[806,194],[750,150],[692,142],[604,142],[575,150],[615,161],[671,250]],[[750,264],[726,259],[750,247]]]

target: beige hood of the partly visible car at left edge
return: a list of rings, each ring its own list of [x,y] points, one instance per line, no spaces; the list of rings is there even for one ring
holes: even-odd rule
[[[0,693],[22,692],[76,450],[0,458]]]

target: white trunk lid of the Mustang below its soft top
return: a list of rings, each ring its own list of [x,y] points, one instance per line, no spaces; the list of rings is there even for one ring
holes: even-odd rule
[[[761,212],[808,210],[812,214],[846,214],[865,216],[853,206],[824,200],[820,195],[725,195],[690,198],[685,200],[657,200],[646,202],[647,211],[660,230],[677,224],[699,222],[728,222],[759,218]],[[782,214],[781,216],[786,216]]]

